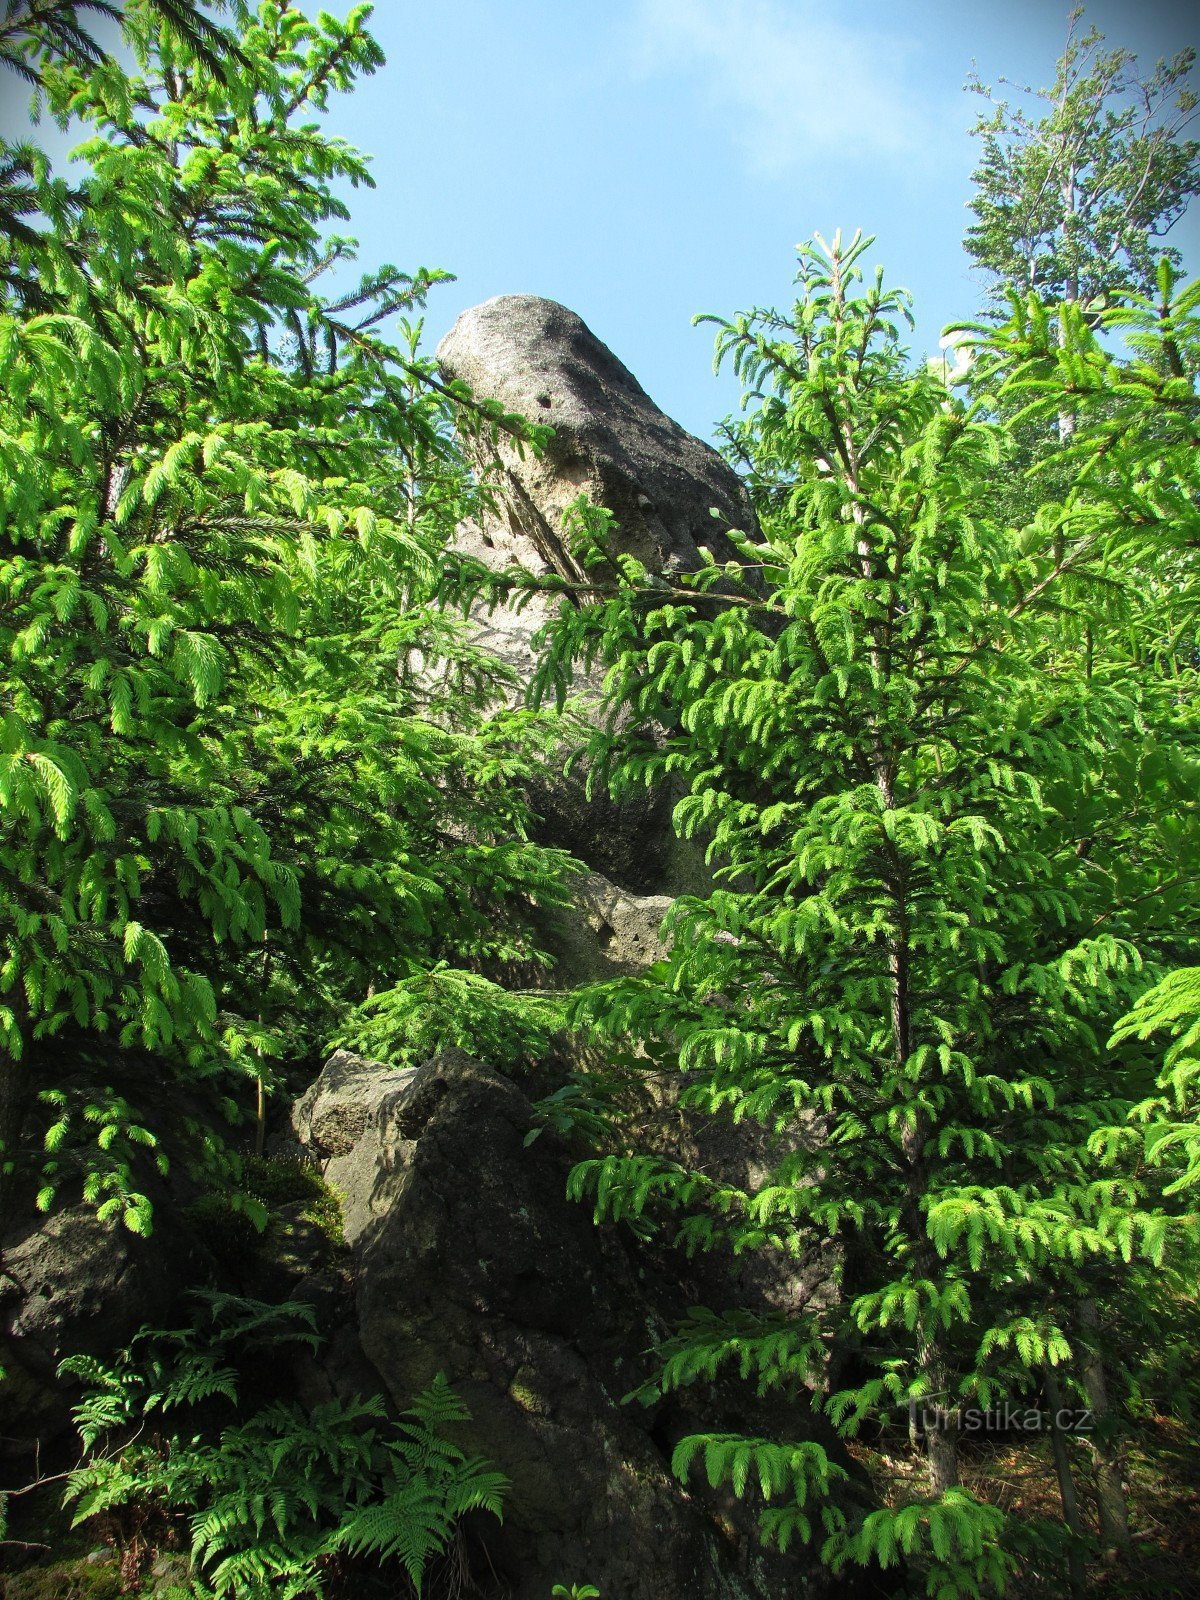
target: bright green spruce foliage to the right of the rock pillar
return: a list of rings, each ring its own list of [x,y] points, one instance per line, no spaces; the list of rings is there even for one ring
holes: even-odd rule
[[[789,315],[720,325],[763,523],[742,565],[626,560],[552,630],[546,686],[600,656],[592,755],[618,792],[683,787],[675,826],[717,883],[672,909],[664,963],[579,1018],[677,1062],[690,1114],[774,1141],[750,1189],[618,1149],[571,1192],[690,1250],[824,1250],[837,1299],[698,1314],[656,1387],[808,1384],[846,1435],[915,1406],[926,1496],[850,1526],[816,1445],[706,1435],[677,1467],[702,1453],[710,1482],[754,1486],[781,1544],[816,1536],[814,1499],[834,1566],[904,1555],[930,1594],[974,1595],[1014,1552],[958,1485],[960,1410],[1037,1400],[1053,1370],[1082,1394],[1094,1301],[1128,1336],[1147,1270],[1195,1259],[1195,1216],[1133,1149],[1144,1062],[1104,1045],[1200,909],[1195,669],[1181,646],[1162,670],[1195,627],[1194,576],[1162,581],[1192,573],[1195,402],[1149,362],[1117,370],[1078,314],[1054,334],[1018,306],[981,370],[1010,413],[1069,386],[1078,430],[1066,499],[1006,526],[1008,432],[910,371],[904,298],[858,286],[867,243],[803,250]],[[1166,294],[1126,312],[1158,354],[1195,338],[1195,294]]]

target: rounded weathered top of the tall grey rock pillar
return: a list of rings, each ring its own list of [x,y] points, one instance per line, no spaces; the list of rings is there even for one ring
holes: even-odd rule
[[[733,469],[661,411],[565,306],[536,294],[485,301],[462,312],[437,358],[448,378],[554,427],[541,458],[499,445],[509,534],[528,539],[554,571],[578,573],[563,510],[582,493],[616,517],[614,547],[653,566],[693,566],[701,544],[730,560],[723,531],[754,530]]]

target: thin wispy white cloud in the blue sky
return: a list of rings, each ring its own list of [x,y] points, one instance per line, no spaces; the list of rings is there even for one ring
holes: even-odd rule
[[[933,154],[946,101],[941,86],[912,82],[917,42],[832,10],[832,0],[637,0],[637,56],[648,74],[698,72],[766,176],[830,155],[899,165]]]

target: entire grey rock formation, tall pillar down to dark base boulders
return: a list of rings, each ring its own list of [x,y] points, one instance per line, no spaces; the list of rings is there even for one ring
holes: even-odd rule
[[[459,318],[438,358],[446,376],[555,429],[541,456],[501,440],[496,461],[480,461],[496,472],[493,509],[459,544],[494,568],[576,574],[563,518],[582,491],[616,515],[614,549],[654,565],[691,566],[701,542],[725,560],[723,530],[754,531],[738,477],[565,307],[488,301]],[[536,605],[477,608],[475,643],[526,678],[546,616]],[[546,842],[589,869],[574,910],[546,923],[558,981],[645,970],[662,954],[670,896],[702,878],[672,840],[670,797],[618,806],[549,768],[530,798]],[[766,1158],[744,1130],[688,1125],[672,1110],[674,1088],[648,1085],[650,1142],[734,1179]],[[683,1262],[594,1227],[566,1198],[573,1154],[550,1131],[526,1142],[531,1094],[462,1051],[418,1070],[331,1056],[293,1107],[294,1139],[282,1149],[318,1163],[339,1195],[349,1256],[296,1226],[288,1251],[258,1262],[253,1282],[254,1293],[304,1298],[320,1315],[328,1342],[296,1368],[294,1390],[314,1402],[382,1390],[403,1408],[445,1371],[472,1410],[472,1446],[512,1478],[502,1528],[478,1531],[499,1584],[490,1592],[512,1600],[547,1600],[554,1584],[573,1582],[595,1584],[605,1600],[877,1592],[864,1574],[834,1584],[814,1557],[766,1555],[746,1507],[670,1472],[677,1440],[707,1427],[819,1437],[850,1467],[803,1402],[755,1408],[744,1392],[698,1386],[654,1408],[622,1405],[646,1376],[646,1349],[690,1304],[726,1296],[787,1309],[824,1291],[827,1264],[755,1261],[734,1283],[731,1264]],[[6,1251],[0,1331],[18,1354],[27,1419],[58,1426],[61,1397],[37,1411],[56,1354],[90,1342],[98,1310],[117,1318],[109,1347],[157,1315],[181,1286],[186,1254],[170,1229],[147,1246],[74,1213]]]

